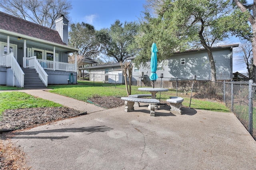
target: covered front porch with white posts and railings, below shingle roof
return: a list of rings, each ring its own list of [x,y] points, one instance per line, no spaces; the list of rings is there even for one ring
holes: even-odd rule
[[[76,53],[79,49],[50,42],[42,43],[39,40],[26,39],[26,36],[19,37],[2,33],[0,44],[0,76],[6,79],[1,81],[2,85],[24,88],[28,82],[24,82],[22,68],[36,69],[45,87],[48,84],[76,83]],[[69,53],[74,53],[75,63],[68,63]],[[72,75],[72,81],[68,80],[70,75]]]

